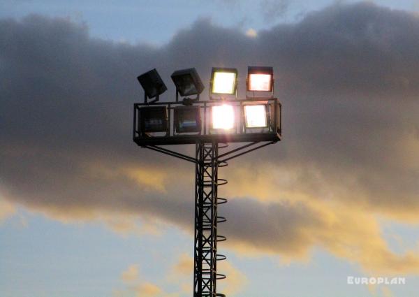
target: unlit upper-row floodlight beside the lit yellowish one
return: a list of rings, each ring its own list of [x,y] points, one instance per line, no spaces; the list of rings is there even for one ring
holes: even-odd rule
[[[199,95],[204,90],[204,84],[195,68],[175,71],[171,78],[180,96]]]

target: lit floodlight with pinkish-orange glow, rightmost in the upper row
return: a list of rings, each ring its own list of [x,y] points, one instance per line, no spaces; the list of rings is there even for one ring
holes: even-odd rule
[[[272,67],[249,66],[247,68],[247,91],[272,92],[274,70]]]

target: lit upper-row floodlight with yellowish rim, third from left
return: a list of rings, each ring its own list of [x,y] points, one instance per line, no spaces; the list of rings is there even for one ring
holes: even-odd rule
[[[211,93],[212,94],[235,94],[237,89],[237,69],[235,68],[212,68]]]

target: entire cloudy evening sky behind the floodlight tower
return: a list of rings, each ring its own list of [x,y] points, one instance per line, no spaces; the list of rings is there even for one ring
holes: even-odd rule
[[[0,1],[0,295],[191,296],[193,165],[136,76],[274,67],[283,140],[221,168],[227,296],[416,296],[418,1]],[[207,98],[207,89],[202,97]],[[192,153],[193,147],[182,147]],[[347,277],[406,277],[351,285]]]

